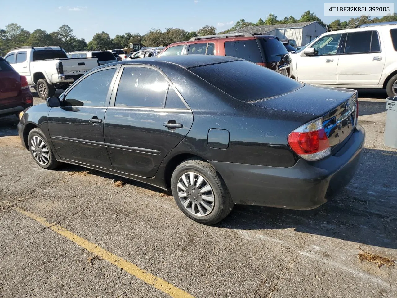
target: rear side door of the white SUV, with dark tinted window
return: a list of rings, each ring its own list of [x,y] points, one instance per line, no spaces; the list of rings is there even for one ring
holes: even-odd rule
[[[338,85],[378,85],[385,65],[375,30],[345,34],[338,61]]]

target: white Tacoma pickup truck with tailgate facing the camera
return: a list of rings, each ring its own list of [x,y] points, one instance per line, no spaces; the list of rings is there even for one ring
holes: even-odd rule
[[[99,66],[97,58],[69,59],[60,46],[19,46],[4,57],[27,78],[41,99],[54,96],[56,89],[66,89],[86,72]]]

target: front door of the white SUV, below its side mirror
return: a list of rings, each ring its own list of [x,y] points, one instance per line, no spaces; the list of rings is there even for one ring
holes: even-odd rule
[[[325,35],[307,48],[314,48],[313,56],[302,52],[296,57],[299,81],[309,84],[336,85],[341,33]]]

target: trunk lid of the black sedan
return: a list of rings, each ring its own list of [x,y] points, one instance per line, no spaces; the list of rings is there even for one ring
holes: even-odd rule
[[[263,108],[312,114],[313,120],[322,117],[332,154],[344,145],[357,125],[355,90],[306,84],[291,93],[255,104]]]

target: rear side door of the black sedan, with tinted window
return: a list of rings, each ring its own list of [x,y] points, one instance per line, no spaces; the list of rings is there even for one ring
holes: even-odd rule
[[[189,132],[192,111],[151,66],[123,66],[106,112],[104,137],[114,170],[153,177]]]

